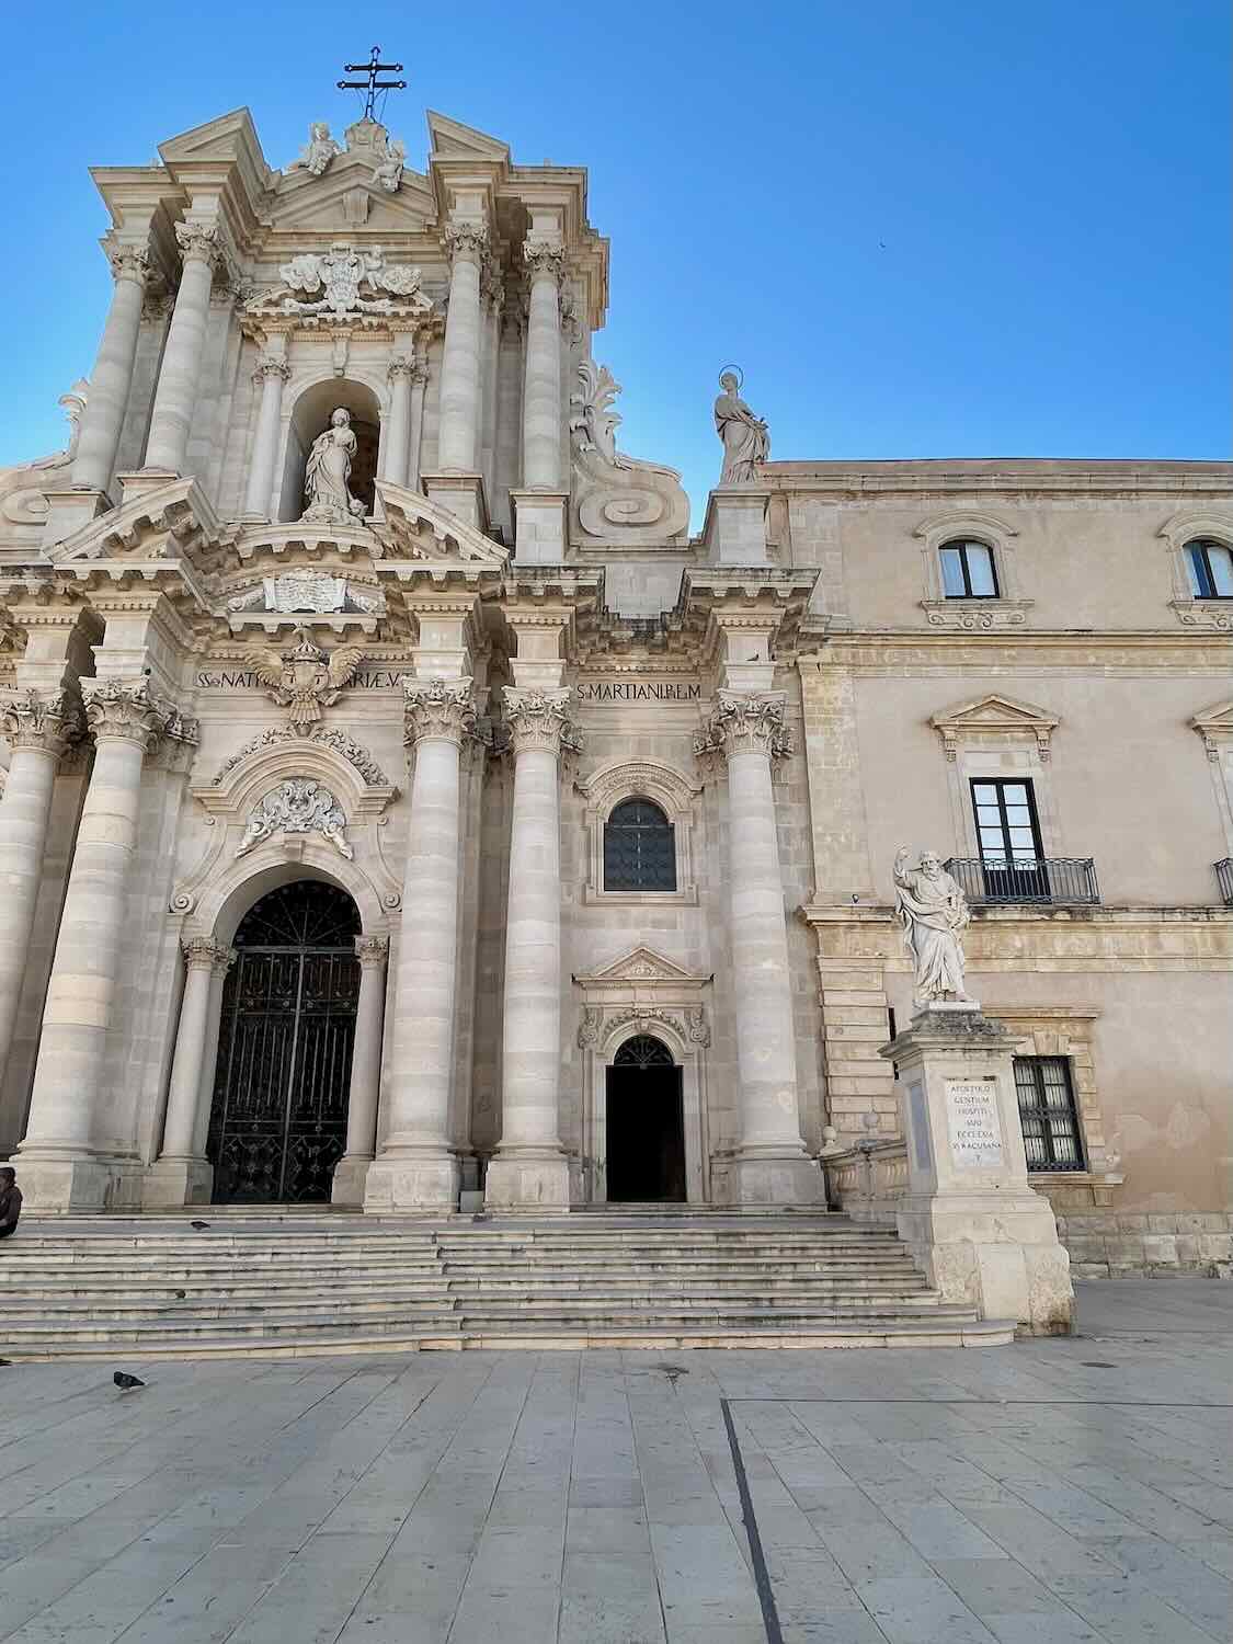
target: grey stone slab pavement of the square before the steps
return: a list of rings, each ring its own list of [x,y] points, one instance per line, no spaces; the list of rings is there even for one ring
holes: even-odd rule
[[[1233,1286],[1085,1284],[1080,1330],[8,1366],[0,1637],[1233,1639]]]

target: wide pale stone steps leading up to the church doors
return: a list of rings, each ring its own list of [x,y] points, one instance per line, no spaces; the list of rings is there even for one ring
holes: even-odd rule
[[[194,1228],[192,1220],[207,1223]],[[53,1220],[0,1246],[0,1355],[991,1346],[893,1233],[840,1215],[439,1223],[326,1213]]]

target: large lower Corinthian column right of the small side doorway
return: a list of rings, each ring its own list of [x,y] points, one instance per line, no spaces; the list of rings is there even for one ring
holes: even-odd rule
[[[789,751],[784,694],[720,690],[705,746],[728,761],[728,906],[737,1011],[737,1151],[740,1205],[819,1197],[801,1141],[787,926],[774,824],[771,758]]]

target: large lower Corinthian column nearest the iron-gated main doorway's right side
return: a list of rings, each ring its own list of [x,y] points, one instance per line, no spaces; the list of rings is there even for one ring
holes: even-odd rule
[[[462,738],[475,723],[470,679],[408,679],[414,746],[403,929],[395,985],[385,1144],[368,1169],[365,1210],[452,1210],[459,1161],[449,1143],[454,981],[459,962]]]

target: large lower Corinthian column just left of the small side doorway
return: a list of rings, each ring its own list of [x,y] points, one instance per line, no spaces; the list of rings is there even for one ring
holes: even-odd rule
[[[505,689],[515,750],[505,917],[501,1144],[485,1197],[508,1210],[567,1210],[561,1151],[561,746],[577,745],[569,687]]]

